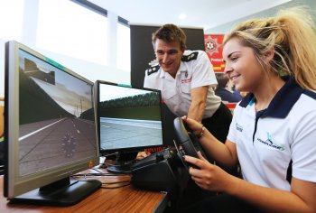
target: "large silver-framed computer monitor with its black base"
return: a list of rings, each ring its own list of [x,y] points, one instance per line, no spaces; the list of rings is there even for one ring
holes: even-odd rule
[[[5,43],[5,185],[12,201],[72,205],[100,181],[93,82],[19,42]]]

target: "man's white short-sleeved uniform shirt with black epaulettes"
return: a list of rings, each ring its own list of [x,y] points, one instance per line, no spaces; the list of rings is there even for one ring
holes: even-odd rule
[[[163,71],[159,65],[145,71],[144,88],[162,91],[163,102],[176,116],[188,115],[191,106],[191,89],[202,86],[215,86],[218,81],[204,51],[185,51],[175,79]],[[220,105],[221,99],[209,87],[207,104],[203,118],[212,116]]]

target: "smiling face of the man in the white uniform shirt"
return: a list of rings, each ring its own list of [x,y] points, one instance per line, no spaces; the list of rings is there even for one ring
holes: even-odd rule
[[[180,42],[164,42],[157,39],[154,42],[154,50],[159,65],[174,78],[180,67],[183,54]]]

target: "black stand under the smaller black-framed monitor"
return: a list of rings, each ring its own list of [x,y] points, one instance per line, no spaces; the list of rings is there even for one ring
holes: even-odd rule
[[[118,152],[114,163],[106,162],[107,171],[116,174],[131,174],[132,164],[135,162],[138,151]]]

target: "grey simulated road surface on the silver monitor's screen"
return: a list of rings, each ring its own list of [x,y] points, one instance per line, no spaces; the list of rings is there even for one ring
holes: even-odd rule
[[[94,123],[77,117],[20,125],[19,144],[21,175],[97,153]]]

